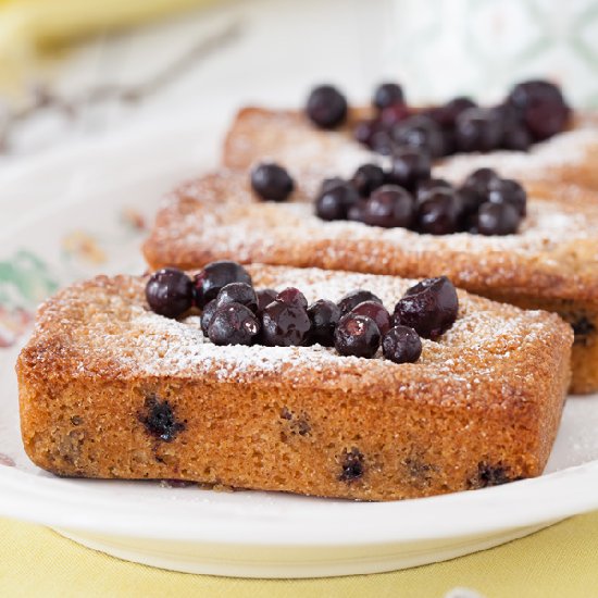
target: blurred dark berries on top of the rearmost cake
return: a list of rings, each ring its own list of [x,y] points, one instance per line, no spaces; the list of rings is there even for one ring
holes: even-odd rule
[[[489,108],[458,97],[413,109],[396,83],[379,85],[372,104],[375,115],[354,127],[358,141],[387,155],[404,147],[423,149],[432,159],[456,152],[525,151],[564,130],[571,116],[560,88],[543,79],[515,85],[501,103]],[[336,87],[321,85],[311,91],[306,112],[316,126],[335,128],[347,120],[347,99]]]

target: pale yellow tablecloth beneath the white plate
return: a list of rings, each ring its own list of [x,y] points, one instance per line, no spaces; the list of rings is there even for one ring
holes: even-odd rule
[[[546,497],[550,500],[550,497]],[[598,597],[598,512],[453,561],[328,580],[234,580],[134,564],[54,532],[0,520],[0,596],[441,598],[454,587],[485,598]]]

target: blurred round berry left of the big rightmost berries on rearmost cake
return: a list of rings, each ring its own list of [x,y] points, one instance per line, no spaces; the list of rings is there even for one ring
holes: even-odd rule
[[[490,109],[470,108],[456,121],[456,140],[459,151],[487,152],[498,149],[502,140],[502,122]]]

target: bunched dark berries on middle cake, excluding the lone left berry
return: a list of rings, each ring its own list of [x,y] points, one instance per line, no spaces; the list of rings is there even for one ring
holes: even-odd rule
[[[431,235],[516,232],[526,213],[526,192],[518,182],[479,169],[454,188],[447,180],[431,178],[431,167],[429,158],[414,149],[397,152],[386,172],[364,164],[350,180],[324,180],[315,213],[325,221],[399,226]]]

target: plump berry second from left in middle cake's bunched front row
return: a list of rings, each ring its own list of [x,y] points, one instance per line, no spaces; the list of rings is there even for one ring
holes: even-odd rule
[[[363,205],[361,221],[371,226],[409,227],[415,216],[415,201],[403,188],[385,185],[376,189]]]

